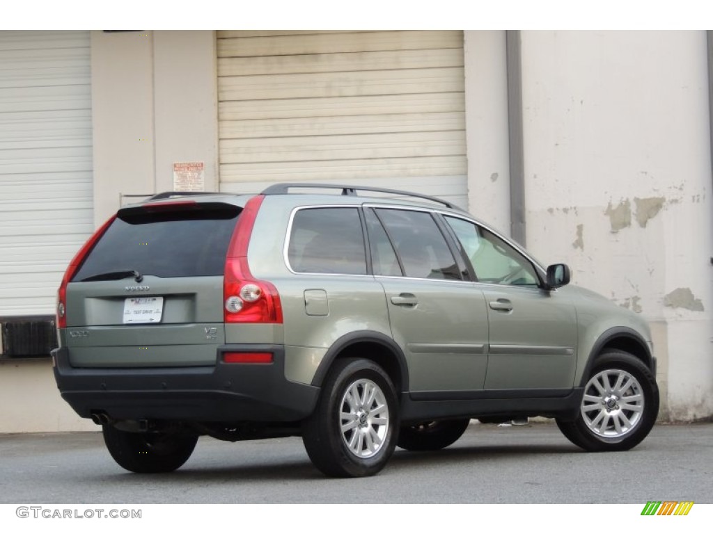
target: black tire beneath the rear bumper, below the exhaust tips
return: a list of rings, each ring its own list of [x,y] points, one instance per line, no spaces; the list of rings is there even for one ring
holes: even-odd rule
[[[117,464],[134,473],[168,473],[185,464],[198,436],[135,433],[103,425],[104,443]]]

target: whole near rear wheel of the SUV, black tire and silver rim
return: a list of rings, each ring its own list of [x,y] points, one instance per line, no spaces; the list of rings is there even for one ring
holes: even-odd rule
[[[389,375],[370,360],[347,358],[334,362],[317,407],[303,424],[302,441],[322,473],[371,476],[389,461],[398,433],[399,407]]]

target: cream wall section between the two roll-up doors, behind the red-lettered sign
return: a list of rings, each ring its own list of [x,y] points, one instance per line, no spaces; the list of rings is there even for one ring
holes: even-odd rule
[[[91,45],[95,224],[121,195],[173,189],[175,162],[205,163],[217,190],[215,33],[95,31]]]

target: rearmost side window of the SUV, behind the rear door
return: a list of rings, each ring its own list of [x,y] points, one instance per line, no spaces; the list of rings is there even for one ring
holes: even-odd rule
[[[366,251],[356,208],[309,208],[294,214],[287,247],[297,273],[366,274]]]

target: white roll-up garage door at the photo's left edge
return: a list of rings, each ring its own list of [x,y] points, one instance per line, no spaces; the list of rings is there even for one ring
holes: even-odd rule
[[[88,32],[0,32],[0,316],[54,313],[91,234]]]

